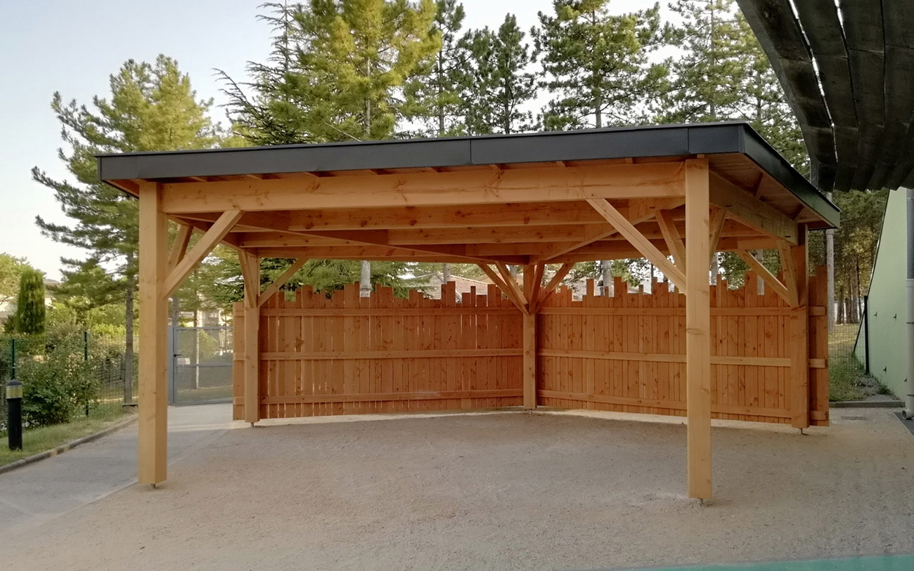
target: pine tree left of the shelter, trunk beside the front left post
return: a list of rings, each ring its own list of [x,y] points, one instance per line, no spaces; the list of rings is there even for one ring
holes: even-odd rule
[[[64,103],[54,94],[51,108],[62,124],[68,147],[58,150],[75,182],[55,180],[35,167],[32,176],[54,191],[63,212],[76,224],[58,225],[37,217],[38,227],[55,241],[83,248],[87,259],[62,259],[64,282],[58,297],[84,308],[112,302],[125,307],[125,363],[133,363],[133,297],[138,253],[138,204],[98,181],[95,154],[213,146],[218,132],[208,117],[212,100],[197,100],[190,79],[172,58],[154,64],[133,59],[110,78],[111,99],[91,106]],[[130,378],[132,371],[125,372]],[[130,384],[126,384],[130,386]],[[128,395],[129,397],[129,395]]]

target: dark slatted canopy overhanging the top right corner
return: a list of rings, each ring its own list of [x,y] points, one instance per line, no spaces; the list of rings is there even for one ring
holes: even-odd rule
[[[914,185],[914,1],[738,2],[800,122],[813,183]]]

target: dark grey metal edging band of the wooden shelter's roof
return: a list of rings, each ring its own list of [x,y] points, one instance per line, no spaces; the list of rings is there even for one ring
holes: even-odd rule
[[[819,219],[836,227],[839,209],[765,142],[747,122],[616,127],[584,131],[352,143],[100,154],[104,182],[133,192],[127,181],[162,182],[246,174],[329,173],[743,155]],[[721,158],[723,164],[723,158]],[[719,169],[718,169],[719,170]],[[743,170],[746,170],[743,168]],[[761,181],[759,182],[759,184]]]

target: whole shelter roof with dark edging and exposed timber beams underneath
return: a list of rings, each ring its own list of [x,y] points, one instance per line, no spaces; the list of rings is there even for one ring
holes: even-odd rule
[[[223,239],[260,257],[527,264],[640,257],[588,198],[670,253],[654,211],[682,224],[668,183],[700,156],[728,210],[720,250],[837,225],[838,209],[741,122],[112,154],[99,172],[133,195],[161,184],[165,214],[198,229],[244,212]]]

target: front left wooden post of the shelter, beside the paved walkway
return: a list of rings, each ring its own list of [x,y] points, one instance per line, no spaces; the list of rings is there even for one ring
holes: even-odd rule
[[[163,282],[168,269],[168,222],[156,183],[141,183],[140,198],[140,483],[165,481],[168,460],[166,326],[168,309]]]

